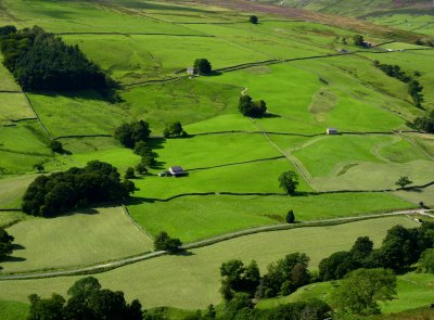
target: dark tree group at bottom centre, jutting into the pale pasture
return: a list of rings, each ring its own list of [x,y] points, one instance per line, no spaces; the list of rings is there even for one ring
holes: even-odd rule
[[[240,292],[257,299],[289,295],[309,283],[308,261],[309,257],[306,254],[290,254],[270,264],[267,273],[260,277],[256,261],[252,260],[244,266],[241,260],[229,260],[220,267],[220,293],[226,302]]]

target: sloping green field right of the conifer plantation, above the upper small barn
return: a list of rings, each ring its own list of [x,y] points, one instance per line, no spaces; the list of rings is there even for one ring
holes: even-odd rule
[[[264,61],[269,57],[238,43],[220,38],[164,36],[64,36],[68,43],[82,51],[113,73],[123,84],[157,78],[192,66],[194,59],[206,56],[213,68]],[[169,44],[170,50],[167,50]],[[113,51],[113,47],[119,48]],[[123,59],[119,61],[119,55]]]

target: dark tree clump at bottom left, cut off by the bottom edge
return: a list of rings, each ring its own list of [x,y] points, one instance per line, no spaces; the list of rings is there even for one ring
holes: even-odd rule
[[[101,289],[98,279],[87,277],[78,280],[67,292],[69,298],[53,293],[50,298],[36,294],[30,302],[29,320],[38,319],[125,319],[142,320],[142,306],[138,299],[127,304],[122,291]]]

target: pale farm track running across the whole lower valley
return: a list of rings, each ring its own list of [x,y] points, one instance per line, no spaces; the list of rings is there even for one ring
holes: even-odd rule
[[[212,244],[216,244],[222,241],[228,241],[231,239],[260,233],[260,232],[269,232],[269,231],[280,231],[280,230],[289,230],[295,228],[304,228],[304,227],[319,227],[319,226],[332,226],[340,223],[347,223],[359,220],[382,218],[382,217],[392,217],[392,216],[407,216],[407,215],[424,215],[429,217],[433,217],[429,214],[430,210],[425,209],[411,209],[411,210],[398,210],[393,213],[383,213],[383,214],[372,214],[372,215],[363,215],[356,217],[343,217],[343,218],[333,218],[333,219],[324,219],[324,220],[314,220],[314,221],[301,221],[298,223],[279,223],[272,226],[263,226],[263,227],[254,227],[246,230],[234,231],[222,235],[212,236],[205,240],[192,242],[186,245],[182,245],[181,249],[191,249],[208,246]],[[73,268],[67,270],[56,270],[56,271],[47,271],[47,272],[35,272],[35,273],[16,273],[9,276],[0,276],[0,281],[8,280],[26,280],[26,279],[42,279],[42,278],[53,278],[53,277],[65,277],[65,276],[78,276],[78,274],[92,274],[108,271],[112,269],[116,269],[126,265],[136,264],[139,261],[156,258],[166,255],[167,252],[158,251],[146,253],[143,255],[124,258],[115,261],[110,261],[101,265],[93,265],[88,267]]]

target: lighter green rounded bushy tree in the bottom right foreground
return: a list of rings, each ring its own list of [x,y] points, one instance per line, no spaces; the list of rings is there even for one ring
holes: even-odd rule
[[[358,269],[348,273],[335,291],[337,305],[357,315],[380,313],[378,300],[396,295],[396,276],[392,270]]]

